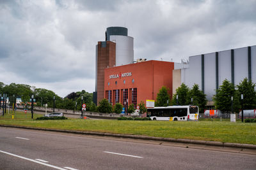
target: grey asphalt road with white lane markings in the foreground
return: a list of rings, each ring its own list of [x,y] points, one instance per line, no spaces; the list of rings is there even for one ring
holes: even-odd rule
[[[0,127],[0,169],[255,169],[256,155]]]

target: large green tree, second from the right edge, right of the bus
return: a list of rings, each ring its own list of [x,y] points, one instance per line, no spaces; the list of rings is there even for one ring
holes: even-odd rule
[[[239,109],[239,97],[234,85],[225,79],[220,88],[216,90],[216,95],[212,97],[216,109],[232,111],[231,97],[233,97],[233,111],[237,112]]]

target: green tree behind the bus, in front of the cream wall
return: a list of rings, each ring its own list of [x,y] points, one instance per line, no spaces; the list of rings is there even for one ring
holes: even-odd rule
[[[172,102],[171,102],[172,105],[177,105],[177,104],[180,106],[188,105],[189,104],[188,92],[189,92],[188,86],[182,83],[180,87],[176,89],[175,94],[173,94]],[[178,95],[178,103],[177,103],[177,95]]]

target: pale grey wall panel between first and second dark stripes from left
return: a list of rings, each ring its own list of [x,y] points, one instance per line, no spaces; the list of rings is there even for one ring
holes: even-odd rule
[[[208,101],[216,94],[216,55],[207,53],[204,55],[204,92]]]

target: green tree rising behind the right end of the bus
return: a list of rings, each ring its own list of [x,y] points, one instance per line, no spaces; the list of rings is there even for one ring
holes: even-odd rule
[[[191,102],[191,98],[193,101]],[[202,90],[199,90],[198,85],[193,85],[192,89],[188,92],[188,101],[187,103],[193,104],[195,106],[199,106],[200,113],[204,113],[204,107],[207,103],[206,95]]]

